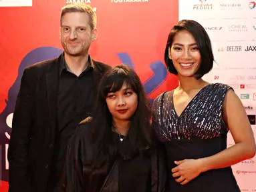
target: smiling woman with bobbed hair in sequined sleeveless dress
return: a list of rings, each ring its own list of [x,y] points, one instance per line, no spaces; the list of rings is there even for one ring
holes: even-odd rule
[[[233,89],[201,79],[213,67],[211,41],[196,21],[179,21],[164,54],[176,89],[153,104],[153,129],[166,150],[168,190],[240,191],[231,165],[255,155],[255,139],[245,109]],[[235,145],[227,149],[227,133]]]

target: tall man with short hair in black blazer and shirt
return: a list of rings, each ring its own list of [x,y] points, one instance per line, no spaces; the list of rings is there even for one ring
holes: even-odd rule
[[[98,37],[92,7],[66,5],[60,23],[63,53],[27,67],[21,78],[8,151],[9,192],[55,189],[68,140],[90,116],[97,85],[110,69],[89,55]]]

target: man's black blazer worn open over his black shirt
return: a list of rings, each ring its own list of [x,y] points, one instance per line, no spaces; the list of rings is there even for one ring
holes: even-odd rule
[[[23,72],[8,150],[9,192],[46,191],[55,140],[60,61],[61,55]],[[97,90],[102,75],[111,67],[90,61]]]

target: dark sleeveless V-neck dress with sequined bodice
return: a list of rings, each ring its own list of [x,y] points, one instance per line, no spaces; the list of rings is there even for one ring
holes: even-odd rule
[[[173,90],[155,99],[152,125],[166,149],[169,191],[239,191],[231,167],[201,173],[186,185],[176,183],[169,171],[176,167],[174,161],[209,157],[227,148],[227,127],[221,117],[229,89],[232,88],[221,83],[203,87],[179,117],[174,109]]]

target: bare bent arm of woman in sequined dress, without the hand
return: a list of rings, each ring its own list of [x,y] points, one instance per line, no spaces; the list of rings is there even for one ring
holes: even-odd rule
[[[229,167],[254,157],[256,147],[245,108],[234,91],[229,90],[223,103],[223,120],[231,131],[235,145],[202,159],[202,171]]]

